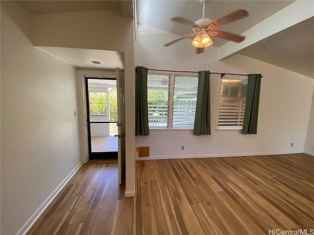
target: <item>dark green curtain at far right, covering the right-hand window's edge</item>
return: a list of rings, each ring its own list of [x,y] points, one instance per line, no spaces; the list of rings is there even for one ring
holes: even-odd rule
[[[242,134],[257,134],[262,74],[249,74]]]

